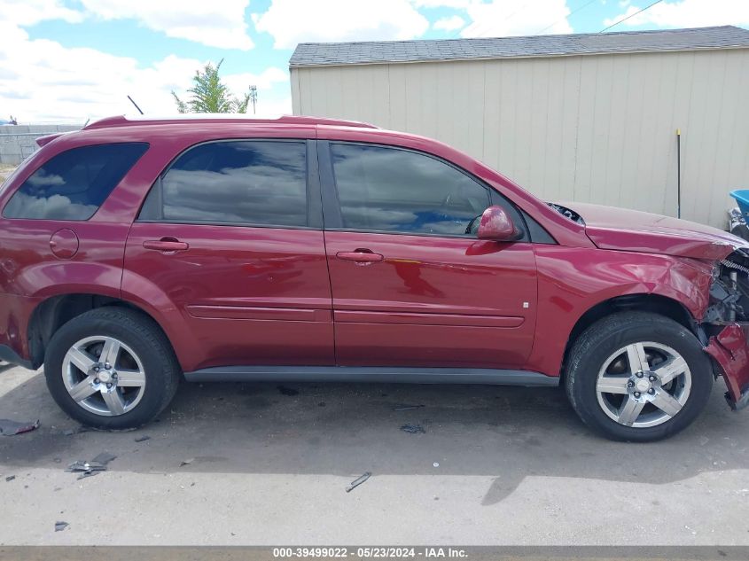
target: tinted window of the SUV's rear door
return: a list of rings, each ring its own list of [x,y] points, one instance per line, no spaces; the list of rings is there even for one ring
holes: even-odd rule
[[[306,152],[296,141],[199,144],[154,185],[139,219],[307,226]]]

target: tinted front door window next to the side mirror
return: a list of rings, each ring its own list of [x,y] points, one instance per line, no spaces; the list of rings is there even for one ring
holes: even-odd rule
[[[343,228],[474,235],[488,190],[446,163],[397,148],[331,144]]]

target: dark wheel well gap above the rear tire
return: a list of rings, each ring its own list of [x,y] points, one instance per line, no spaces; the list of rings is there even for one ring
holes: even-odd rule
[[[28,347],[32,367],[37,369],[42,366],[47,345],[60,327],[92,309],[105,306],[134,309],[152,319],[163,332],[150,314],[127,300],[86,293],[52,296],[35,308],[28,322]]]

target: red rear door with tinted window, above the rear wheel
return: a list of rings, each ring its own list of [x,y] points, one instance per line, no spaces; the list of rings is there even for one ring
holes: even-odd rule
[[[320,204],[312,141],[193,146],[130,230],[123,292],[176,308],[198,347],[190,370],[332,364]]]

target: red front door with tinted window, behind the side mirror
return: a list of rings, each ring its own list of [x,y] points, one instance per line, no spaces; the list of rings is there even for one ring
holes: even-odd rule
[[[421,152],[320,143],[339,365],[521,367],[534,339],[534,251],[479,240],[511,204]],[[527,239],[527,237],[526,237]]]

